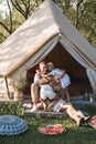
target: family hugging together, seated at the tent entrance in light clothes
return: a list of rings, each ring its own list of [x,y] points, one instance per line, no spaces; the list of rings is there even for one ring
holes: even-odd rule
[[[70,102],[68,85],[71,80],[65,70],[54,68],[52,62],[40,62],[31,85],[32,112],[43,109],[47,112],[66,112],[77,125],[86,122],[89,116],[85,116],[81,111],[76,111]]]

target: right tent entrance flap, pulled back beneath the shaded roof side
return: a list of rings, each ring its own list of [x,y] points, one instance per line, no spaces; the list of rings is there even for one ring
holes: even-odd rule
[[[92,63],[85,59],[85,56],[81,56],[81,53],[77,50],[74,50],[74,45],[68,43],[66,40],[61,39],[61,43],[63,44],[64,49],[70,52],[70,54],[82,65],[86,69],[87,76],[92,84],[93,91],[96,94],[96,71],[94,71]]]

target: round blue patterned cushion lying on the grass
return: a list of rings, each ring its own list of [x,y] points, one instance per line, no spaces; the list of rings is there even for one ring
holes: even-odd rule
[[[0,135],[15,135],[28,130],[26,122],[15,115],[0,115]]]

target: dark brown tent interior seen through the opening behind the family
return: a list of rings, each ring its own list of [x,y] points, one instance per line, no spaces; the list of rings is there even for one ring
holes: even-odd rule
[[[71,96],[83,95],[85,92],[92,93],[92,86],[88,81],[86,70],[62,47],[57,43],[56,47],[44,59],[46,62],[53,62],[55,68],[66,70],[66,73],[71,76],[70,93]],[[28,71],[28,89],[25,93],[30,93],[30,86],[33,82],[35,73],[34,68]]]

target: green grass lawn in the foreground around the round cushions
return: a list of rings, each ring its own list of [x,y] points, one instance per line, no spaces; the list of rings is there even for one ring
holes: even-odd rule
[[[88,107],[89,112],[90,110]],[[20,135],[0,136],[0,144],[96,144],[96,130],[87,123],[77,126],[68,116],[54,117],[36,114],[25,115],[23,119],[26,121],[29,128]],[[57,123],[66,128],[66,133],[43,135],[38,132],[39,126]]]

